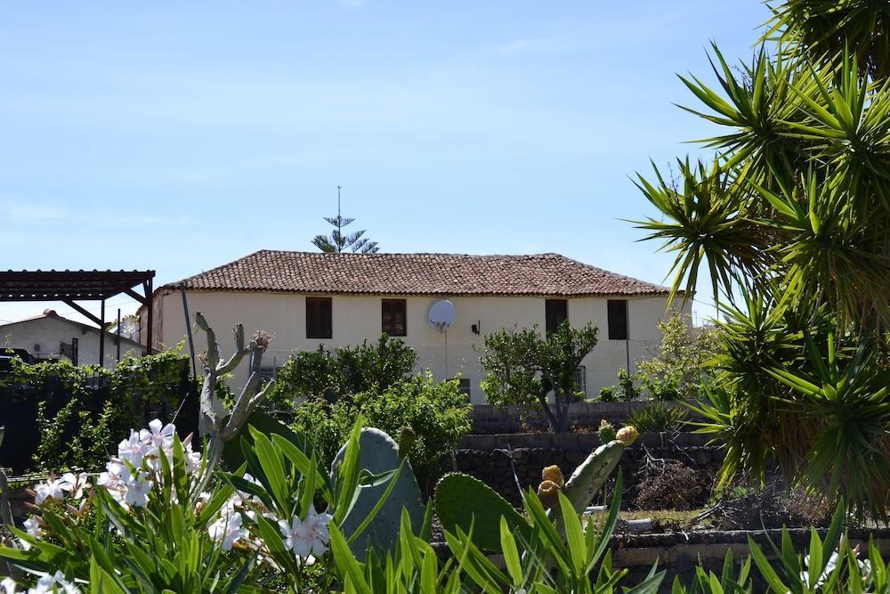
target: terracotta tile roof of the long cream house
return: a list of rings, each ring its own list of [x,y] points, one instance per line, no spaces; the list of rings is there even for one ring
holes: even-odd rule
[[[667,295],[559,254],[323,254],[263,249],[166,285],[191,290],[368,295]]]

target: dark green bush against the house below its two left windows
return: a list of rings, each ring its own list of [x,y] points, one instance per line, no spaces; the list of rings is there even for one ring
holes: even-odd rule
[[[417,354],[399,338],[381,334],[376,343],[319,345],[292,355],[279,369],[267,401],[287,413],[301,399],[334,402],[344,397],[385,390],[411,376]]]

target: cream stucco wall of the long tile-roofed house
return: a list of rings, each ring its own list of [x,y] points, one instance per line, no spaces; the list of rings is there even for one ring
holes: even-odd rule
[[[206,291],[190,291],[187,295],[190,313],[204,314],[216,331],[223,354],[231,352],[229,330],[238,322],[244,324],[247,337],[257,330],[272,332],[275,338],[263,359],[264,365],[270,366],[283,364],[294,351],[312,349],[319,344],[336,347],[358,344],[366,338],[376,340],[381,332],[381,299],[405,298],[408,336],[402,339],[417,352],[418,370],[431,369],[436,378],[461,373],[470,379],[473,403],[485,402],[479,387],[483,376],[480,354],[475,350],[481,347],[484,336],[504,328],[535,324],[543,331],[545,325],[544,297],[451,297],[457,309],[457,321],[446,335],[430,328],[426,321],[429,307],[438,297],[334,295],[329,296],[333,338],[310,339],[305,338],[305,295]],[[162,291],[155,298],[156,346],[173,346],[185,340],[187,331],[180,293]],[[606,298],[578,297],[568,302],[569,321],[573,326],[583,326],[589,321],[600,329],[599,344],[583,362],[588,397],[597,395],[601,387],[616,383],[619,368],[627,366],[628,352],[633,370],[637,360],[651,356],[659,345],[657,323],[667,315],[665,297],[627,299],[628,341],[609,340]],[[689,313],[688,309],[689,305],[685,313]],[[481,326],[479,335],[471,330],[471,325],[476,323]],[[194,338],[195,352],[199,354],[206,349],[203,332],[195,332]],[[188,345],[185,352],[188,353]],[[246,365],[242,365],[235,373],[232,387],[239,389],[246,379]]]

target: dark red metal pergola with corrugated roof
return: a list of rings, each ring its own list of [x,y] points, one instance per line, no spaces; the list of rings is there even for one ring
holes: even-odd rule
[[[151,330],[154,316],[151,306],[151,284],[155,271],[6,271],[0,272],[0,302],[3,301],[61,301],[99,325],[99,361],[105,361],[105,300],[125,294],[145,305],[145,352],[151,353]],[[136,289],[142,289],[140,295]],[[78,301],[101,301],[97,317],[79,305]]]

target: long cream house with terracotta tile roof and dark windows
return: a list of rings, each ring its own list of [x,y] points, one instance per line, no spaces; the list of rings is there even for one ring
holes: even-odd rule
[[[262,250],[167,284],[153,295],[155,347],[186,339],[182,303],[203,313],[223,352],[229,329],[247,336],[270,331],[264,362],[280,366],[298,350],[373,341],[382,332],[412,346],[418,367],[437,378],[464,378],[471,402],[484,403],[479,347],[491,332],[564,319],[599,328],[599,344],[581,370],[587,396],[616,383],[616,373],[649,356],[659,344],[658,321],[667,316],[665,287],[637,281],[558,254],[467,256],[454,254],[323,254]],[[446,331],[428,313],[442,299],[456,319]],[[688,305],[686,305],[688,308]],[[144,336],[144,334],[142,335]],[[195,352],[206,349],[194,334]],[[246,365],[233,387],[246,381]]]

